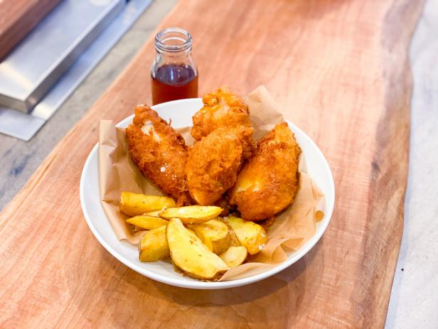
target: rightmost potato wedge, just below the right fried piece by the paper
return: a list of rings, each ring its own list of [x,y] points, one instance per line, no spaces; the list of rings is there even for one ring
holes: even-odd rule
[[[224,221],[230,225],[237,235],[237,239],[247,248],[250,254],[257,254],[265,246],[267,234],[262,226],[234,216],[225,217]]]

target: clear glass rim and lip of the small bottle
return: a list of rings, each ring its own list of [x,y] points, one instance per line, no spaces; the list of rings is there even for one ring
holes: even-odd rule
[[[191,49],[192,42],[191,34],[183,28],[166,28],[155,36],[156,50],[169,53]]]

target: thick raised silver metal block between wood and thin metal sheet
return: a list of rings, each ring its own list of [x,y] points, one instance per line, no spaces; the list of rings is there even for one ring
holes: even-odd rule
[[[62,1],[0,63],[0,105],[29,112],[122,9],[122,0]]]

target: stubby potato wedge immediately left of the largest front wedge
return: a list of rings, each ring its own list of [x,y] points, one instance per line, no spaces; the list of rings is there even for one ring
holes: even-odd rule
[[[140,261],[159,261],[170,256],[166,239],[166,226],[161,226],[144,234],[139,242]]]

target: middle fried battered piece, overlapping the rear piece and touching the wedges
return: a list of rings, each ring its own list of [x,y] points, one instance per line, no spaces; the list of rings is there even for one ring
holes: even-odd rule
[[[245,156],[252,152],[252,131],[223,126],[188,149],[187,186],[199,205],[213,205],[233,187]]]

